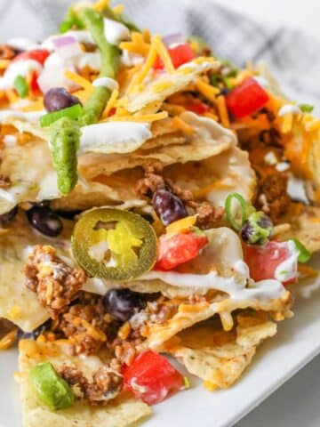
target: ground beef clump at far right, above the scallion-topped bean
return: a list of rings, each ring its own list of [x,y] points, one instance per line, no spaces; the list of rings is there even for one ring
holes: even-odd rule
[[[291,203],[287,185],[288,177],[285,173],[275,172],[260,180],[257,207],[275,223],[287,212]]]

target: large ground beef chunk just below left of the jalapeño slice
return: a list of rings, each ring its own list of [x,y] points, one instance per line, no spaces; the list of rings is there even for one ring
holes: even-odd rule
[[[87,278],[84,270],[63,262],[52,246],[41,245],[35,246],[29,255],[24,273],[26,285],[36,292],[38,301],[53,319],[68,310]]]

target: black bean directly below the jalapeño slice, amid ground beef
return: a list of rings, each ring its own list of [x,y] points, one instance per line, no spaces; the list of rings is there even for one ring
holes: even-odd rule
[[[105,294],[103,303],[108,313],[122,322],[132,318],[133,314],[146,305],[142,294],[130,289],[111,289]]]

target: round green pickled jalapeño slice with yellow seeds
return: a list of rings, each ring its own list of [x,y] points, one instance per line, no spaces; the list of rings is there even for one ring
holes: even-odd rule
[[[93,209],[76,223],[72,251],[90,276],[127,281],[152,269],[157,238],[154,229],[139,214]]]

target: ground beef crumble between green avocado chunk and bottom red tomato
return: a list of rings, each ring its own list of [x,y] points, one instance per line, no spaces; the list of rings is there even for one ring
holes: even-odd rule
[[[58,373],[69,383],[78,399],[87,400],[90,405],[103,405],[122,391],[124,378],[107,366],[100,367],[92,375],[92,382],[76,367],[62,366]]]

